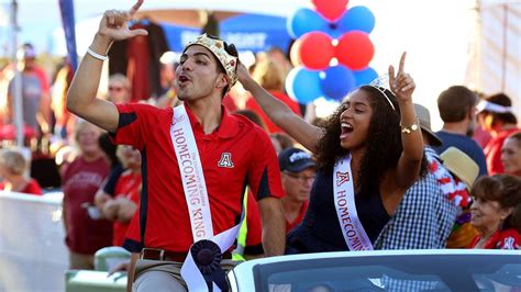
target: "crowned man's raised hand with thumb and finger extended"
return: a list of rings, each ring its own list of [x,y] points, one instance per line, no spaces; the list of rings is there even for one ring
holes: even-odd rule
[[[106,11],[101,19],[98,34],[109,42],[126,40],[137,35],[147,35],[148,33],[145,30],[130,30],[128,24],[141,4],[143,4],[143,0],[137,0],[129,11]]]

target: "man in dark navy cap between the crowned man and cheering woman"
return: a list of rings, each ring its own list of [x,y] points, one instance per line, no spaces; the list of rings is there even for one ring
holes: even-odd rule
[[[278,162],[282,173],[282,188],[286,191],[282,207],[288,233],[302,221],[308,210],[315,164],[309,153],[293,147],[280,151]]]

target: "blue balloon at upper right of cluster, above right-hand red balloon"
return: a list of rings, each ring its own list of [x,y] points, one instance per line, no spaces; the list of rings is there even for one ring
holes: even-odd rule
[[[350,31],[370,33],[375,29],[375,15],[366,7],[352,7],[342,15],[337,25],[344,33]]]

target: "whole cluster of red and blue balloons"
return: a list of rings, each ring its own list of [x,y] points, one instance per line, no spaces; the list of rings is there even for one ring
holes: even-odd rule
[[[347,2],[312,0],[314,10],[302,8],[288,19],[288,32],[296,38],[290,50],[296,67],[286,90],[301,104],[320,97],[341,101],[378,76],[368,67],[375,54],[369,40],[375,16],[363,5],[346,9]]]

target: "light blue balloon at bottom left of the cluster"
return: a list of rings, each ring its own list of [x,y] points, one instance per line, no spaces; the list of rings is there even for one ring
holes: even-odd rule
[[[301,104],[308,104],[323,97],[320,89],[320,71],[308,70],[303,67],[295,67],[286,78],[286,91],[289,97]]]

